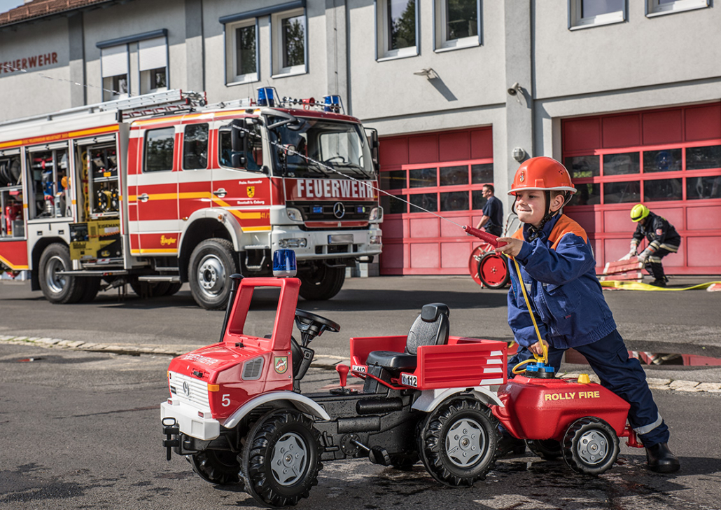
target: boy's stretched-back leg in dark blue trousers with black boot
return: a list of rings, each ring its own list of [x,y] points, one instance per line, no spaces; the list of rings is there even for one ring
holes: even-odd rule
[[[628,355],[627,347],[619,332],[614,330],[601,340],[575,349],[588,360],[598,379],[601,379],[603,387],[616,393],[631,405],[629,409],[631,426],[634,429],[648,430],[640,433],[641,441],[647,446],[667,442],[668,426],[663,420],[657,423],[660,415],[646,382],[646,373],[640,361]]]

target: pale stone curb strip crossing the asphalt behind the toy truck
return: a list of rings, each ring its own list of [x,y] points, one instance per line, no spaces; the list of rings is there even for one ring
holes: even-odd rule
[[[151,346],[119,346],[108,345],[103,343],[91,343],[81,341],[62,340],[61,338],[39,338],[26,336],[0,335],[1,343],[12,343],[16,345],[31,345],[43,348],[61,348],[71,349],[72,351],[86,352],[102,352],[121,354],[129,356],[140,356],[141,354],[156,354],[165,356],[180,356],[189,351],[193,351],[198,346],[175,346],[167,347],[151,347]],[[326,354],[316,354],[311,366],[319,369],[335,369],[339,363],[348,363],[348,359],[339,358],[338,356],[329,356]],[[582,372],[564,372],[559,377],[577,378]],[[585,372],[584,372],[585,373]],[[598,383],[598,376],[589,371],[591,382]],[[676,392],[706,392],[721,393],[721,383],[719,382],[697,382],[685,381],[683,379],[658,379],[655,377],[647,377],[646,381],[652,390],[670,390]]]

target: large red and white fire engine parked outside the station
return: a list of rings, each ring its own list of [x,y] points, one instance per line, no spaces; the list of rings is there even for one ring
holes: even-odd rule
[[[0,270],[54,303],[129,283],[228,302],[292,248],[305,299],[381,252],[378,135],[338,96],[206,105],[169,90],[0,123]]]

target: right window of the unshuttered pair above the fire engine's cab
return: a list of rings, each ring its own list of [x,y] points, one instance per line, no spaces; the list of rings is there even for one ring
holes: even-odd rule
[[[273,14],[270,30],[273,32],[273,76],[306,73],[305,9]]]

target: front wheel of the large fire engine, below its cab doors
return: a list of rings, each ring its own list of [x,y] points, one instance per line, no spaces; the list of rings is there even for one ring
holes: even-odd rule
[[[188,263],[193,299],[205,309],[225,308],[231,289],[230,276],[239,272],[233,243],[218,237],[205,239],[190,254]]]

